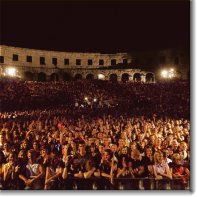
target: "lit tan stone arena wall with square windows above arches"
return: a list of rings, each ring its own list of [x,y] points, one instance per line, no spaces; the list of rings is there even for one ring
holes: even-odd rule
[[[8,67],[17,69],[26,80],[102,79],[154,82],[154,73],[139,68],[126,69],[133,58],[127,53],[76,53],[35,50],[0,45],[2,72]],[[122,64],[124,69],[114,68]],[[113,68],[110,68],[113,66]]]

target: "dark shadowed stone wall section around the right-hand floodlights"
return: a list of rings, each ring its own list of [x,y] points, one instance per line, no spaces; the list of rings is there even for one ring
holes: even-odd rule
[[[189,79],[190,77],[190,55],[189,50],[183,48],[165,49],[157,51],[144,51],[132,53],[133,63],[143,65],[143,69],[154,70],[156,80],[160,80],[161,70],[173,68],[177,77]]]

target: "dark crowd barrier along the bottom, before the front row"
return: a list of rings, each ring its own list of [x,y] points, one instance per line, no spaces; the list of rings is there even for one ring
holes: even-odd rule
[[[181,179],[162,179],[154,178],[114,178],[109,179],[72,178],[64,182],[65,190],[189,190],[190,182]]]

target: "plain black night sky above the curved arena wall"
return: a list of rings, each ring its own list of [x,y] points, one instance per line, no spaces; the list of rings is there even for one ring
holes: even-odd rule
[[[189,1],[1,1],[1,44],[130,52],[189,46]]]

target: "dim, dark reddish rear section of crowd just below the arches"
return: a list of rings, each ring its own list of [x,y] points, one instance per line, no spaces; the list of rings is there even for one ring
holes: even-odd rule
[[[189,118],[188,82],[114,83],[102,80],[69,82],[0,81],[1,111],[51,106],[116,107],[121,113]]]

